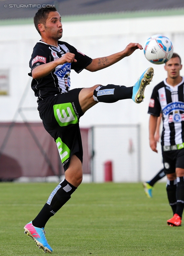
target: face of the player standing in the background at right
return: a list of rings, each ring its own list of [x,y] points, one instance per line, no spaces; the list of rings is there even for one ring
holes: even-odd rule
[[[178,57],[171,58],[165,64],[165,70],[167,71],[167,76],[172,79],[175,79],[178,76],[180,76],[181,69],[182,69],[182,65]]]

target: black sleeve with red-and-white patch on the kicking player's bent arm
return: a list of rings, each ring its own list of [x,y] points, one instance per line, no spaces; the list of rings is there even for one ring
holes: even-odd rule
[[[35,68],[36,66],[39,66],[48,62],[50,62],[50,57],[49,57],[49,52],[47,51],[47,48],[44,48],[44,46],[39,45],[39,43],[37,43],[33,48],[31,60],[29,61],[29,67],[31,68],[31,72],[33,68]],[[32,76],[31,72],[29,73],[29,76]]]

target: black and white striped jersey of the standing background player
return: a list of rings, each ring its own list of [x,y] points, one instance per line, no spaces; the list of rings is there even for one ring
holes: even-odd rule
[[[162,113],[162,146],[172,146],[184,142],[184,77],[176,86],[167,84],[166,79],[153,89],[149,103],[149,114]]]

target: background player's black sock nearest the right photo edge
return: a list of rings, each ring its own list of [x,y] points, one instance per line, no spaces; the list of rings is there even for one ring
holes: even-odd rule
[[[176,188],[176,213],[182,217],[184,209],[184,177],[177,177],[177,188]]]

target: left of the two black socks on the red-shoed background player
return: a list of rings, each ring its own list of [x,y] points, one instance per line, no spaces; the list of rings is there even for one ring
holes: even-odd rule
[[[167,191],[167,197],[169,204],[172,208],[173,214],[176,213],[176,180],[168,180],[167,179],[167,185],[166,185],[166,191]]]

